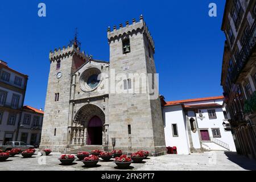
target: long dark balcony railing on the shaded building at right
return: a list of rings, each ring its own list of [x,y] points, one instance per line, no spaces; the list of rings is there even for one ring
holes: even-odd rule
[[[246,38],[246,42],[243,46],[243,48],[240,51],[240,55],[238,56],[236,65],[234,65],[231,79],[232,82],[235,83],[237,81],[238,76],[240,75],[242,69],[245,67],[247,61],[249,60],[249,57],[251,55],[251,51],[253,50],[255,43],[256,43],[256,28],[255,23],[253,24],[253,27],[251,27],[251,31],[249,33],[249,36]]]

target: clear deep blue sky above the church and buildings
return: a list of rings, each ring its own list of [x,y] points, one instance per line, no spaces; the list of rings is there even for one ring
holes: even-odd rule
[[[39,18],[38,4],[47,17]],[[208,5],[217,4],[217,17]],[[219,96],[225,36],[221,29],[225,1],[2,1],[0,59],[29,76],[25,105],[43,107],[49,51],[67,46],[75,28],[82,49],[109,61],[108,26],[144,15],[155,40],[160,93],[167,101]]]

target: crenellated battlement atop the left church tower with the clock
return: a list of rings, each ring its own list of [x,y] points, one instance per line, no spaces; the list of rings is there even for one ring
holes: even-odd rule
[[[79,47],[72,45],[72,46],[68,46],[67,48],[65,46],[63,46],[62,49],[60,47],[58,49],[55,48],[54,51],[50,51],[49,52],[49,60],[55,61],[55,60],[62,59],[63,57],[72,56],[74,54],[79,56],[84,61],[86,61],[90,58],[90,56],[85,54],[84,51],[81,52]]]

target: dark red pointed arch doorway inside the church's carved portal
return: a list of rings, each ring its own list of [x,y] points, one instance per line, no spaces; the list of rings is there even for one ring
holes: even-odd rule
[[[88,145],[102,145],[102,126],[101,119],[96,115],[90,119],[87,127]]]

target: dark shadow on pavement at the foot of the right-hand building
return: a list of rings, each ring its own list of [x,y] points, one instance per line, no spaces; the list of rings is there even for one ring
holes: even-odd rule
[[[245,156],[238,155],[237,152],[224,152],[230,161],[236,163],[238,166],[246,169],[256,171],[256,161],[246,158]]]

